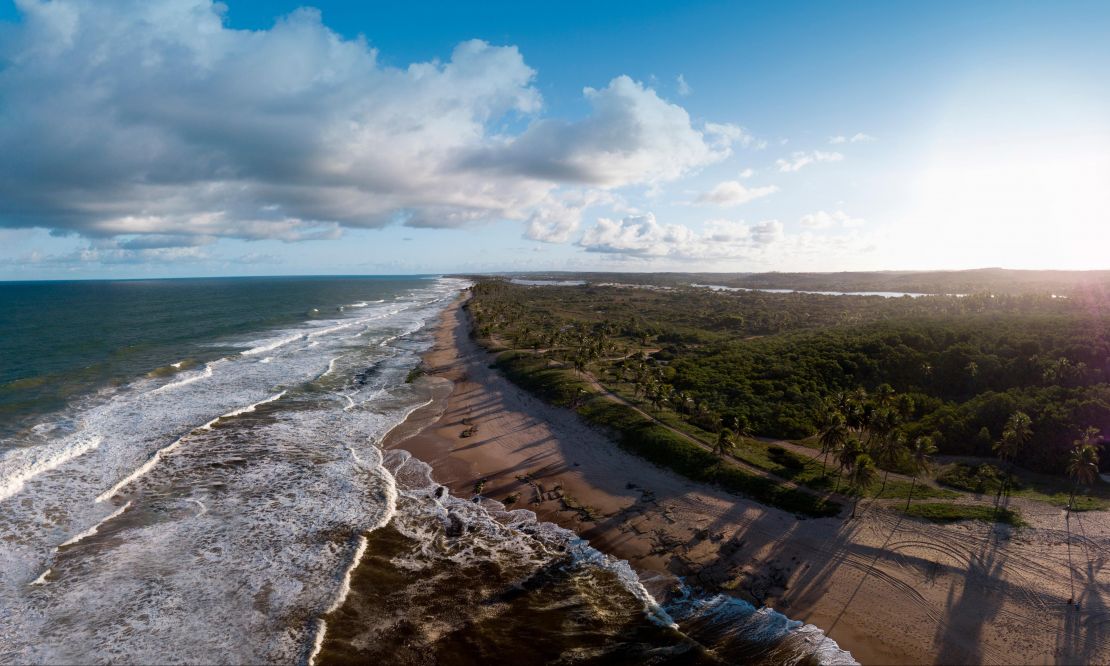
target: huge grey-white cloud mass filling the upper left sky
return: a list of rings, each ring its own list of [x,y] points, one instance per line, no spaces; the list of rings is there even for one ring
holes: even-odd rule
[[[307,9],[248,31],[211,0],[18,7],[0,33],[0,226],[190,246],[523,221],[568,183],[673,180],[744,141],[627,77],[586,89],[582,120],[538,118],[515,47],[395,68]]]

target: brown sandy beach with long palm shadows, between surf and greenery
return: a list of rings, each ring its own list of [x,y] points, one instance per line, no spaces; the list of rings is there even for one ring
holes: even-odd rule
[[[466,317],[457,303],[443,313],[421,380],[436,397],[385,442],[454,494],[482,483],[627,559],[649,587],[683,576],[729,591],[817,625],[862,664],[1110,663],[1106,512],[1071,518],[1077,609],[1058,507],[1015,500],[1031,523],[1019,531],[867,502],[857,519],[799,519],[660,470],[525,393],[488,367]]]

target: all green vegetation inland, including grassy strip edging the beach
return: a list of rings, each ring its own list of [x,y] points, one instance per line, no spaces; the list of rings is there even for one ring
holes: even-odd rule
[[[1068,442],[1096,433],[1098,453],[1087,428],[1110,423],[1110,315],[1090,300],[712,292],[642,278],[666,286],[480,281],[475,335],[513,350],[497,363],[517,384],[622,446],[798,513],[819,515],[799,497],[830,492],[1068,505],[1082,486],[1093,498],[1074,509],[1104,505],[1089,455],[1082,478],[1062,480]],[[939,481],[953,490],[937,488],[932,458],[952,454],[1002,465],[948,466]],[[1050,482],[1028,483],[1028,470]],[[785,481],[811,492],[784,495]]]

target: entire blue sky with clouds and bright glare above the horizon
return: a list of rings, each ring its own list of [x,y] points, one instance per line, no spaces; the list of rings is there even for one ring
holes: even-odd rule
[[[0,280],[1110,269],[1110,3],[0,0]]]

